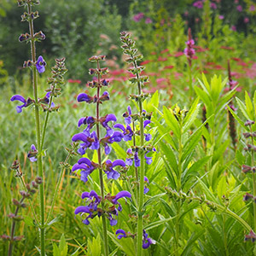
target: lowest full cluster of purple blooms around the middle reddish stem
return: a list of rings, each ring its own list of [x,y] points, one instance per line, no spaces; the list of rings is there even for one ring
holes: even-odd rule
[[[80,216],[83,219],[82,222],[86,225],[90,224],[89,218],[92,219],[96,216],[100,218],[102,215],[105,215],[109,219],[110,225],[114,226],[117,224],[116,217],[119,212],[122,211],[119,199],[123,197],[131,198],[131,194],[128,191],[120,191],[117,195],[111,196],[108,194],[102,199],[102,197],[97,195],[94,190],[84,192],[81,195],[81,198],[86,199],[86,205],[77,207],[74,213],[80,213]],[[102,204],[104,208],[100,207],[102,201],[104,202]],[[117,205],[118,207],[116,207]]]

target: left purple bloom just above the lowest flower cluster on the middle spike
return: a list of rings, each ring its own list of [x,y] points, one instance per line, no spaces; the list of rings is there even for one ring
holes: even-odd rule
[[[90,173],[93,172],[97,167],[98,165],[95,162],[83,157],[79,159],[77,164],[73,165],[72,172],[83,170],[80,172],[81,180],[86,183],[88,181],[88,175],[90,175]]]

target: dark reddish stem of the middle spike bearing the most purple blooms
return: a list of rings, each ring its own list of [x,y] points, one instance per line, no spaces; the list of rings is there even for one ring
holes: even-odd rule
[[[99,61],[97,61],[97,69],[100,69],[100,64]],[[98,84],[101,83],[101,76],[100,74],[98,74]],[[96,135],[98,137],[98,139],[100,140],[100,125],[98,123],[99,119],[100,119],[100,102],[99,102],[99,98],[100,98],[100,91],[101,88],[100,86],[97,87],[97,102],[96,102]],[[102,154],[101,154],[101,147],[98,148],[97,150],[97,154],[98,154],[98,164],[99,166],[101,166],[99,168],[99,177],[100,177],[100,183],[101,183],[101,194],[102,194],[102,208],[104,209],[104,183],[103,183],[103,173],[102,173]],[[104,255],[108,256],[108,230],[107,230],[107,222],[106,222],[106,217],[104,214],[102,214],[102,228],[103,228],[103,247],[104,247]]]

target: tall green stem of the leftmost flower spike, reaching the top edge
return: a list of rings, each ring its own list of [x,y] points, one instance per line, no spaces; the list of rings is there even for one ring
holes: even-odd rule
[[[27,4],[28,14],[32,13],[32,6],[30,3]],[[36,45],[34,38],[34,28],[32,19],[29,20],[29,30],[31,34],[31,54],[32,61],[36,63]],[[40,202],[40,244],[41,244],[41,255],[45,255],[45,230],[44,230],[44,173],[43,173],[43,158],[42,158],[42,147],[41,147],[41,131],[40,131],[40,117],[39,117],[39,105],[38,105],[38,73],[36,67],[32,68],[32,84],[34,90],[35,100],[35,122],[36,122],[36,134],[38,144],[38,176],[43,178],[43,183],[39,185],[39,202]]]

